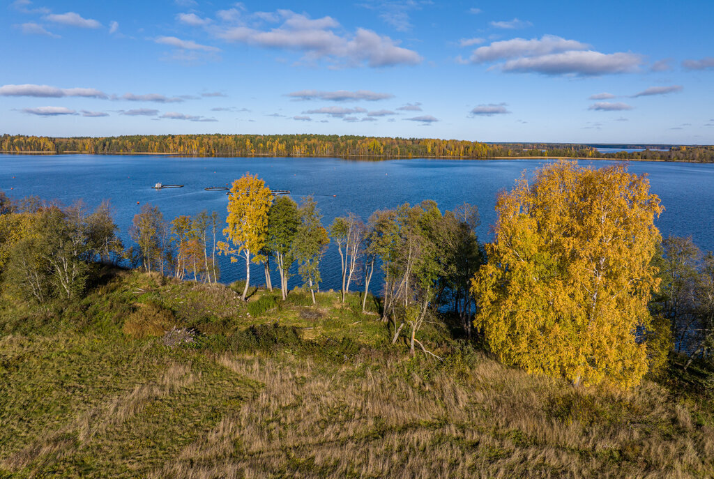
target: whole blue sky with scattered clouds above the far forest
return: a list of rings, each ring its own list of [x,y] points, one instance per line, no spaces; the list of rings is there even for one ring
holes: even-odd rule
[[[710,1],[0,9],[0,133],[714,143]]]

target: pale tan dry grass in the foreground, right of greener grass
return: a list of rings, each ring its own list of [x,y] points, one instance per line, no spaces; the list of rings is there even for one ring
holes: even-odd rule
[[[687,411],[665,408],[658,400],[663,390],[651,384],[629,394],[573,390],[486,358],[458,382],[446,374],[425,380],[418,373],[383,373],[400,369],[394,360],[384,360],[379,370],[346,364],[331,374],[311,360],[222,356],[218,361],[262,383],[263,390],[149,477],[714,473],[714,431],[694,430]],[[646,423],[633,423],[626,414],[603,422],[605,410],[632,410]],[[663,434],[656,429],[660,425],[685,430]]]

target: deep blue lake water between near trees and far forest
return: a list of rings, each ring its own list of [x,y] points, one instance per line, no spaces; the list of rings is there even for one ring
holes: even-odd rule
[[[348,211],[366,220],[373,211],[401,203],[433,199],[441,208],[453,209],[464,202],[478,206],[481,241],[491,239],[496,220],[496,193],[511,188],[523,171],[532,172],[548,160],[391,160],[349,161],[338,158],[185,158],[174,156],[29,156],[0,155],[0,190],[14,198],[36,195],[72,203],[82,198],[91,207],[108,198],[114,208],[125,246],[131,244],[128,229],[139,213],[139,203],[161,208],[164,218],[202,210],[226,217],[225,191],[204,191],[208,186],[227,186],[246,171],[263,178],[273,189],[290,190],[300,198],[312,194],[328,226]],[[589,162],[581,161],[583,164]],[[595,166],[610,161],[593,161]],[[657,221],[663,236],[692,236],[704,251],[714,250],[710,232],[714,226],[714,164],[636,161],[632,173],[648,173],[651,189],[662,199],[665,212]],[[154,183],[178,183],[183,188],[154,190]],[[12,188],[12,189],[11,189]],[[221,281],[243,278],[244,264],[221,258]],[[340,263],[331,246],[321,268],[323,288],[339,288]],[[263,283],[257,267],[251,278]],[[375,279],[377,281],[375,281]],[[291,288],[299,279],[293,277]],[[277,274],[273,284],[279,284]],[[372,283],[378,291],[378,278]],[[372,288],[371,288],[372,289]]]

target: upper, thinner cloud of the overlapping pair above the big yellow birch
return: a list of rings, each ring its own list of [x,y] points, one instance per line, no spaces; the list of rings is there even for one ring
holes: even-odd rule
[[[513,59],[522,56],[540,56],[559,53],[561,51],[585,50],[588,48],[588,44],[580,43],[580,41],[566,40],[555,35],[543,35],[540,39],[494,41],[491,45],[481,46],[474,50],[471,61],[473,61],[473,63],[484,63],[487,61]]]

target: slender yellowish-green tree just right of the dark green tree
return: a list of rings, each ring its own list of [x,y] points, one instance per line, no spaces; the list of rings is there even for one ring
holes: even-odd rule
[[[310,289],[313,304],[316,304],[315,290],[322,281],[320,261],[330,243],[330,237],[322,226],[322,215],[312,196],[305,198],[299,213],[300,224],[293,238],[291,251],[298,261],[298,272],[303,278],[303,284]]]

